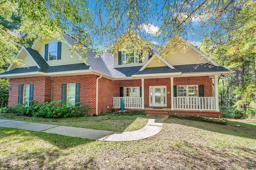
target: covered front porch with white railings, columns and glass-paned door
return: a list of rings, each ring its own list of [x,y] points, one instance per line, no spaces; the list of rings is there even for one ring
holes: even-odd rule
[[[183,78],[186,80],[190,79],[190,77],[183,77]],[[212,76],[212,78],[214,78],[214,94],[218,94],[218,75],[214,75]],[[168,81],[166,81],[166,79],[168,79]],[[145,81],[146,81],[146,84],[145,84]],[[192,83],[197,85],[199,84],[199,82],[196,82],[196,81]],[[177,85],[177,81],[175,82],[175,84]],[[191,82],[185,83],[184,85],[188,85],[188,84],[190,85]],[[212,85],[212,80],[211,80],[211,85]],[[130,85],[130,86],[133,86],[133,85]],[[219,112],[218,95],[215,95],[214,97],[212,97],[212,95],[211,96],[208,95],[206,97],[200,97],[199,95],[198,96],[177,96],[175,92],[177,91],[177,89],[174,89],[174,88],[175,88],[174,77],[168,77],[164,79],[154,78],[154,79],[150,79],[150,83],[149,83],[149,79],[141,79],[140,97],[130,97],[130,96],[113,97],[113,106],[116,109],[120,109],[120,104],[121,104],[120,101],[123,98],[124,108],[126,110],[129,110],[129,109],[141,109],[145,111],[162,110],[162,111],[167,111],[168,113],[169,112],[175,113],[175,111],[180,113],[181,112],[184,113],[184,111]],[[205,90],[210,91],[210,89],[205,89]],[[212,87],[211,87],[211,91],[212,91]],[[199,89],[198,89],[198,93],[199,93]]]

